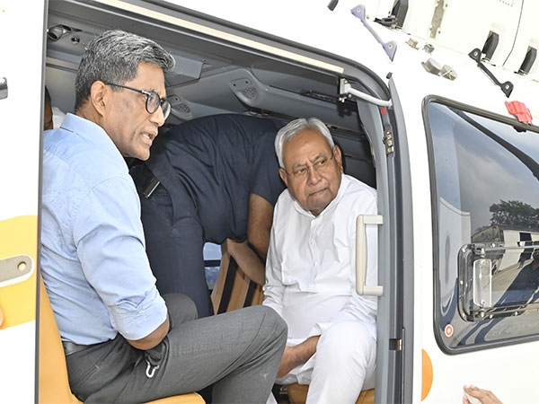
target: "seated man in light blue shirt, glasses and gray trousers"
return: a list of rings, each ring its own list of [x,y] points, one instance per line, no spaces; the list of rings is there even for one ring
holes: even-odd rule
[[[287,327],[252,307],[197,317],[161,296],[124,157],[146,160],[170,112],[173,58],[152,40],[106,31],[75,79],[75,114],[44,136],[40,267],[84,402],[144,402],[213,385],[215,402],[265,402]]]

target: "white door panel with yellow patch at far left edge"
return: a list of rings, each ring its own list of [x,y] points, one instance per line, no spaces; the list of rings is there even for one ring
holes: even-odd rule
[[[0,7],[0,402],[35,402],[45,2]]]

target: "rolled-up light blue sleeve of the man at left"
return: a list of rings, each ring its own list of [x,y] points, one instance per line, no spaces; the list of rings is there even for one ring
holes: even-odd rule
[[[155,287],[130,178],[115,177],[93,189],[75,215],[74,240],[84,277],[110,312],[110,323],[127,339],[144,338],[165,321]]]

